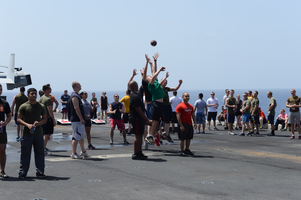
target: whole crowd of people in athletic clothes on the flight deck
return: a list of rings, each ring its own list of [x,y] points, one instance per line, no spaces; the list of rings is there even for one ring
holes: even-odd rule
[[[211,92],[210,98],[207,101],[203,100],[203,94],[198,95],[198,100],[194,103],[194,107],[188,103],[190,95],[188,92],[182,94],[182,98],[177,96],[177,90],[181,87],[183,81],[175,87],[167,87],[167,78],[169,72],[166,72],[165,77],[160,81],[157,79],[160,72],[165,71],[165,67],[157,70],[157,59],[159,54],[153,56],[153,60],[145,54],[146,64],[141,70],[142,80],[141,86],[138,86],[137,81],[133,80],[137,75],[137,70],[133,70],[130,77],[126,96],[119,101],[119,95],[114,94],[114,101],[109,103],[106,92],[102,92],[100,103],[95,98],[95,93],[92,93],[90,101],[87,100],[88,93],[80,92],[81,84],[74,81],[71,86],[73,91],[68,95],[65,90],[61,96],[62,103],[62,119],[67,119],[72,125],[72,159],[82,159],[90,157],[84,147],[84,138],[87,138],[87,149],[95,149],[91,144],[91,119],[97,118],[96,106],[101,108],[101,119],[107,119],[107,110],[110,115],[110,144],[113,143],[113,135],[115,127],[120,131],[119,135],[123,136],[123,143],[129,144],[126,140],[125,123],[129,123],[128,134],[131,132],[135,135],[134,153],[132,159],[145,160],[147,156],[142,153],[142,145],[144,149],[149,148],[149,144],[155,144],[160,147],[163,143],[162,139],[172,143],[173,139],[170,134],[174,134],[175,123],[178,124],[178,139],[180,140],[180,156],[193,156],[194,153],[190,150],[190,143],[193,139],[194,129],[197,129],[195,134],[205,133],[206,117],[208,121],[207,131],[211,131],[210,125],[213,121],[213,130],[219,130],[216,126],[222,126],[222,121],[225,122],[224,129],[228,130],[228,135],[235,135],[232,131],[241,130],[238,136],[259,135],[259,129],[263,129],[265,123],[271,125],[271,133],[267,136],[275,136],[275,130],[278,130],[278,125],[281,124],[281,131],[287,131],[291,127],[292,136],[294,139],[295,124],[299,135],[297,139],[301,139],[300,128],[300,111],[301,98],[296,96],[296,90],[291,89],[291,96],[287,98],[286,107],[290,109],[289,114],[285,114],[285,110],[280,110],[280,115],[275,121],[275,108],[277,107],[276,99],[272,96],[272,92],[267,92],[267,98],[270,98],[268,106],[268,116],[265,117],[263,111],[259,107],[258,92],[252,91],[243,94],[243,100],[240,95],[234,97],[234,90],[225,90],[223,98],[222,112],[217,114],[219,108],[219,100],[215,98],[215,93]],[[147,75],[148,65],[150,65],[150,74]],[[173,96],[169,98],[168,92],[172,92]],[[0,98],[0,177],[8,178],[5,174],[6,163],[6,144],[7,133],[6,125],[14,117],[17,124],[17,140],[21,141],[21,156],[20,156],[20,179],[25,178],[29,170],[31,159],[31,150],[34,149],[34,158],[36,165],[36,176],[46,177],[44,174],[45,156],[51,156],[46,147],[49,135],[53,134],[56,122],[53,112],[58,106],[57,100],[52,96],[50,84],[46,84],[39,91],[40,98],[37,99],[37,90],[29,88],[27,96],[25,88],[20,87],[20,93],[13,98],[11,107],[8,102]],[[0,85],[0,95],[2,94],[2,86]],[[53,108],[55,104],[55,108]],[[15,109],[14,109],[15,108]],[[5,119],[6,116],[6,119]],[[216,124],[216,118],[218,123]],[[235,118],[237,120],[234,126]],[[193,123],[194,125],[193,125]],[[260,125],[260,126],[259,126]],[[171,127],[170,127],[171,126]],[[163,132],[162,132],[163,129]],[[202,130],[201,130],[202,129]],[[245,133],[247,131],[247,133]],[[76,148],[79,143],[81,152],[76,153]]]

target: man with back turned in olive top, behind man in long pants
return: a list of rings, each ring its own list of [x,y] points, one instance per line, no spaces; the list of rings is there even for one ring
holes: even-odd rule
[[[11,104],[11,117],[14,117],[15,123],[17,124],[17,140],[21,140],[20,138],[22,138],[22,132],[21,132],[21,136],[20,136],[20,130],[23,131],[23,126],[21,126],[18,122],[17,122],[17,116],[18,116],[18,111],[20,108],[20,105],[22,105],[25,102],[28,102],[28,97],[24,94],[25,92],[25,87],[21,86],[20,87],[20,94],[17,94],[16,96],[14,96],[13,102]],[[15,109],[15,116],[14,116],[14,107],[16,104],[16,109]]]

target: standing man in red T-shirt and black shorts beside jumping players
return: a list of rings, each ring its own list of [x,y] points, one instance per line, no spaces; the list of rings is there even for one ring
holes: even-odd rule
[[[181,102],[175,110],[177,114],[178,124],[180,125],[180,129],[178,129],[178,136],[180,138],[181,156],[194,155],[194,153],[192,153],[189,150],[189,146],[190,146],[190,141],[193,139],[193,132],[194,132],[193,128],[197,129],[197,119],[194,115],[193,106],[188,103],[189,97],[190,96],[188,92],[183,93],[182,95],[183,102]],[[194,126],[192,126],[191,117]],[[184,145],[186,145],[185,150],[184,150]]]

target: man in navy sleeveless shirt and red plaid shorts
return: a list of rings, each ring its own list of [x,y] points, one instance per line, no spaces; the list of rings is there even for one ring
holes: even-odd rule
[[[117,128],[119,131],[122,131],[123,135],[123,143],[129,144],[129,142],[126,140],[126,127],[124,126],[123,119],[121,119],[121,114],[126,114],[126,110],[124,108],[124,105],[119,102],[119,95],[114,94],[114,101],[109,104],[109,115],[110,115],[110,144],[113,144],[113,136],[114,136],[114,130],[117,125]]]

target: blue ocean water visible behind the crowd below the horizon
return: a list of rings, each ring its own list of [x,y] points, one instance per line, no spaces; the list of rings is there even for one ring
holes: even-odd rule
[[[229,88],[231,89],[231,88]],[[295,88],[296,89],[296,88]],[[252,92],[255,90],[250,89]],[[259,107],[261,107],[261,110],[265,113],[265,116],[267,117],[268,115],[268,105],[270,102],[270,99],[267,98],[266,93],[268,91],[273,92],[273,97],[277,101],[277,108],[276,108],[276,116],[280,114],[280,109],[285,109],[286,113],[288,113],[288,109],[286,108],[286,100],[288,97],[291,96],[290,94],[291,89],[257,89],[258,91],[258,99],[259,99]],[[84,90],[82,90],[84,91]],[[243,100],[243,93],[247,92],[248,90],[243,90],[243,89],[234,89],[234,97],[236,97],[237,94],[240,94],[240,99]],[[298,91],[301,91],[299,89],[296,89],[296,95],[298,95]],[[11,105],[14,95],[18,94],[19,90],[14,89],[13,91],[5,91],[2,93],[2,96],[6,96],[6,99]],[[88,99],[92,97],[92,92],[96,93],[96,97],[98,99],[99,103],[99,98],[102,95],[103,91],[90,91],[86,90],[88,93]],[[114,101],[113,95],[114,94],[119,94],[121,99],[123,96],[126,95],[126,90],[116,90],[116,91],[106,91],[107,92],[107,97],[108,97],[108,102],[111,103]],[[210,93],[214,92],[215,97],[219,100],[219,109],[218,113],[222,111],[222,105],[223,105],[223,97],[225,95],[225,89],[199,89],[199,90],[181,90],[181,88],[178,90],[178,95],[179,97],[182,97],[182,94],[184,92],[188,92],[190,95],[190,100],[189,103],[194,106],[194,103],[198,100],[198,95],[199,93],[203,93],[203,100],[207,101],[208,98],[210,98]],[[57,99],[59,102],[59,106],[57,109],[61,109],[62,104],[60,103],[61,95],[63,95],[64,91],[52,91],[52,95]],[[25,92],[26,94],[26,92]],[[68,94],[71,94],[71,90],[68,90]],[[169,98],[172,97],[172,92],[169,92]],[[97,111],[100,112],[100,108],[97,108]]]

